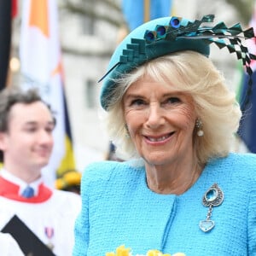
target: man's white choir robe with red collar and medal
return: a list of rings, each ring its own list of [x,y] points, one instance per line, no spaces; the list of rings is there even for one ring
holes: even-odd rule
[[[81,207],[80,196],[73,192],[48,189],[43,185],[44,192],[41,193],[39,189],[39,195],[35,200],[32,198],[27,199],[27,202],[23,199],[19,201],[19,195],[12,199],[8,198],[12,196],[5,195],[8,188],[4,187],[7,183],[9,181],[0,177],[0,230],[10,218],[17,215],[44,244],[53,245],[55,255],[71,256],[74,223]],[[15,184],[8,187],[12,186],[14,191]]]

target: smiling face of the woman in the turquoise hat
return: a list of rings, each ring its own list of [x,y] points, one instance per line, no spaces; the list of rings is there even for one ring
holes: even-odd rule
[[[193,154],[191,96],[146,77],[125,92],[123,108],[131,141],[149,165],[168,165]]]

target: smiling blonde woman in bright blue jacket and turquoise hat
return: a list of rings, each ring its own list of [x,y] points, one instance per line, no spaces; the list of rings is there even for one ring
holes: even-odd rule
[[[237,49],[241,28],[201,26],[212,19],[152,20],[115,50],[101,103],[131,160],[86,168],[73,255],[122,244],[132,255],[256,255],[256,157],[230,153],[241,110],[207,57],[217,36],[248,52]]]

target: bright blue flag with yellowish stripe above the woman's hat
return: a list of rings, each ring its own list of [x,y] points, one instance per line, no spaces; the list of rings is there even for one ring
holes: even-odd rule
[[[172,15],[172,0],[123,0],[122,9],[131,31],[148,20]]]

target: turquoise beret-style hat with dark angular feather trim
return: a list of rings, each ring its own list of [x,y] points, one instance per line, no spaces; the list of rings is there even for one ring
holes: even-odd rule
[[[109,97],[116,86],[113,79],[130,73],[146,61],[181,50],[194,50],[209,56],[209,44],[212,43],[219,49],[226,47],[230,53],[236,53],[237,59],[242,60],[251,76],[253,72],[250,62],[256,56],[248,52],[247,47],[241,44],[241,39],[254,38],[253,28],[243,31],[239,23],[229,28],[224,22],[215,26],[202,26],[202,23],[212,22],[213,19],[214,15],[206,15],[195,21],[163,17],[138,26],[115,49],[109,61],[108,73],[100,79],[103,80],[100,96],[102,108],[108,110]],[[251,90],[251,79],[249,84]]]

